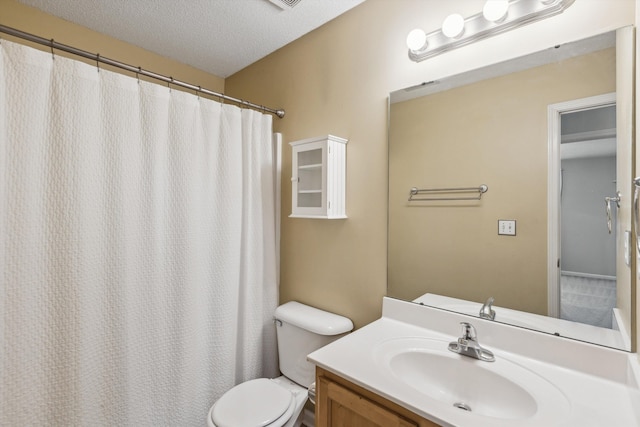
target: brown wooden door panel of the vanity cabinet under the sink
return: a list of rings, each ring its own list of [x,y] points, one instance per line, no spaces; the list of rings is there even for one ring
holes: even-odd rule
[[[417,427],[418,424],[326,378],[318,390],[319,427]]]

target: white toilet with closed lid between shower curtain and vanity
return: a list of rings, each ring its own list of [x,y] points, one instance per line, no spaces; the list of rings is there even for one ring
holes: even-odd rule
[[[346,317],[295,301],[275,312],[280,372],[238,384],[218,399],[207,415],[209,427],[298,427],[315,381],[307,355],[353,329]]]

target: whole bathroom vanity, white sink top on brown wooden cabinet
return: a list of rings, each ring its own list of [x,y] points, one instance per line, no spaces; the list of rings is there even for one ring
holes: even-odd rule
[[[494,362],[448,350],[461,322]],[[640,425],[635,354],[391,298],[308,360],[318,427]]]

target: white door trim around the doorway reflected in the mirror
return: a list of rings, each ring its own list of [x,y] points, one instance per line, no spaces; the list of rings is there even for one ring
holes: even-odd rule
[[[547,315],[560,317],[560,114],[616,103],[616,94],[591,96],[551,104],[548,120],[547,179]]]

